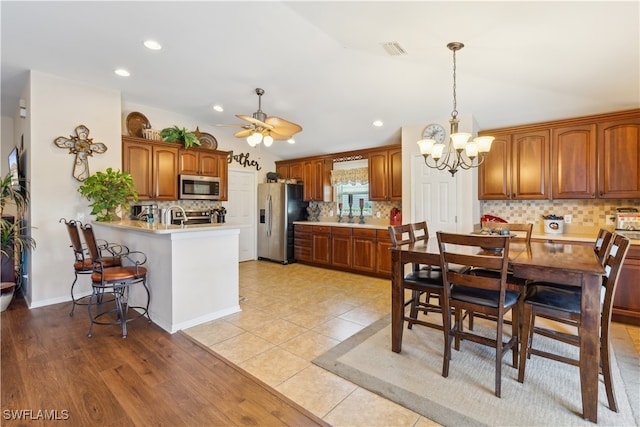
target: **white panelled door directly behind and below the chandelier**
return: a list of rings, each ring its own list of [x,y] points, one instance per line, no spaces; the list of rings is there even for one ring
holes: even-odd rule
[[[457,176],[427,167],[418,155],[413,158],[411,188],[413,222],[427,221],[431,236],[436,231],[460,232]]]

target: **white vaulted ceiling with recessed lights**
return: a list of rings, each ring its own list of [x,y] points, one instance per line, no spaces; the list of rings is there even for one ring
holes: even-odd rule
[[[402,126],[446,121],[451,41],[465,44],[458,111],[480,129],[640,107],[637,1],[2,1],[0,13],[2,115],[33,69],[192,117],[225,149],[245,148],[239,128],[215,126],[255,112],[260,87],[267,115],[303,127],[295,145],[270,147],[282,158],[385,145]],[[388,54],[388,42],[406,54]]]

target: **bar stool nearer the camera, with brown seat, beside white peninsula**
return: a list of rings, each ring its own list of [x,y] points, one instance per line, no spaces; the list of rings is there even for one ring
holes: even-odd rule
[[[147,257],[139,251],[128,251],[120,256],[120,265],[107,267],[104,262],[102,253],[98,247],[95,234],[91,224],[84,224],[82,227],[82,235],[89,255],[91,256],[93,271],[91,273],[91,286],[93,292],[89,297],[88,311],[91,325],[89,333],[92,335],[93,325],[121,325],[122,338],[127,337],[127,323],[140,317],[149,317],[149,300],[150,293],[147,287],[147,269],[143,264],[147,262]],[[125,265],[131,264],[131,265]],[[130,305],[130,289],[134,285],[141,285],[146,292],[146,301],[144,306]],[[102,297],[105,292],[112,293],[114,296],[114,307],[111,305],[104,307],[106,303]],[[96,309],[94,314],[92,308]],[[129,309],[134,309],[135,315],[129,316]]]

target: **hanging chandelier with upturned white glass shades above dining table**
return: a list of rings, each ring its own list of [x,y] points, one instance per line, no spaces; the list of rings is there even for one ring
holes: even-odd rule
[[[432,138],[418,141],[424,163],[433,169],[448,170],[455,176],[458,169],[477,168],[484,161],[484,156],[491,149],[492,136],[479,136],[473,140],[471,134],[458,132],[458,110],[456,100],[456,52],[464,47],[460,42],[447,44],[453,52],[453,111],[451,112],[451,132],[449,140],[436,141]],[[475,163],[474,163],[475,161]]]

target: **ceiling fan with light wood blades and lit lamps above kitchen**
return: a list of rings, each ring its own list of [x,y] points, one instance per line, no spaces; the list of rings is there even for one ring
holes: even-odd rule
[[[291,137],[300,132],[302,127],[288,120],[281,119],[280,117],[267,117],[264,111],[262,111],[262,95],[264,95],[264,89],[256,88],[256,94],[258,95],[258,111],[253,113],[251,117],[245,116],[244,114],[236,114],[237,118],[246,120],[250,124],[235,125],[242,126],[243,130],[234,133],[233,136],[236,138],[247,138],[247,142],[252,147],[260,144],[260,142],[264,142],[264,145],[269,147],[273,144],[274,140],[289,140],[291,143],[295,142],[292,142]]]

